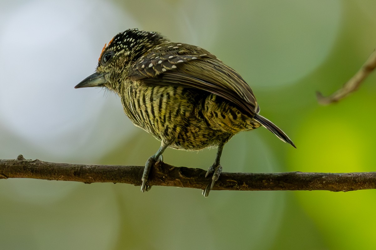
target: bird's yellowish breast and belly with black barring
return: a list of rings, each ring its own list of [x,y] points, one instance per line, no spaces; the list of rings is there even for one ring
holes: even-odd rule
[[[135,126],[171,148],[201,150],[259,127],[233,105],[206,91],[127,81],[121,93],[125,114]]]

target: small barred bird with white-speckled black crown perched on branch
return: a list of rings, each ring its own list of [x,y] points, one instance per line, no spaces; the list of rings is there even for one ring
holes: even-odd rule
[[[96,72],[75,88],[105,87],[120,96],[132,123],[161,141],[141,178],[147,191],[150,169],[166,148],[218,147],[203,190],[218,180],[224,144],[241,131],[263,126],[295,147],[288,136],[259,115],[259,105],[244,79],[215,55],[198,46],[175,43],[158,32],[137,28],[118,33],[105,45]]]

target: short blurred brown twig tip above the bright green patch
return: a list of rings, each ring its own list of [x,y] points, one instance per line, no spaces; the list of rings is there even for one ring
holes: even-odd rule
[[[372,54],[368,58],[368,60],[363,64],[363,66],[356,72],[356,74],[347,81],[342,88],[335,91],[330,96],[323,96],[320,92],[316,92],[317,101],[321,105],[328,105],[332,102],[338,102],[339,100],[343,99],[350,93],[354,92],[358,89],[360,84],[364,81],[364,79],[376,68],[376,49],[373,50]]]

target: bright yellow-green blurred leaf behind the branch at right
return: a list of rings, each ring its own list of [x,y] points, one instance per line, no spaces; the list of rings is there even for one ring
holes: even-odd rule
[[[303,117],[289,154],[291,171],[374,171],[374,94],[363,88],[341,102],[317,107]],[[297,192],[299,201],[333,249],[369,249],[373,234],[376,190],[348,193]]]

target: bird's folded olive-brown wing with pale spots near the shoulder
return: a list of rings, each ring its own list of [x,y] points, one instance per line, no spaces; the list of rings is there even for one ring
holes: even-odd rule
[[[142,79],[145,84],[205,90],[229,100],[251,116],[258,114],[259,106],[251,88],[235,70],[204,49],[184,44],[191,48],[182,50],[179,45],[170,43],[164,51],[151,51],[139,58],[131,66],[129,78]]]

